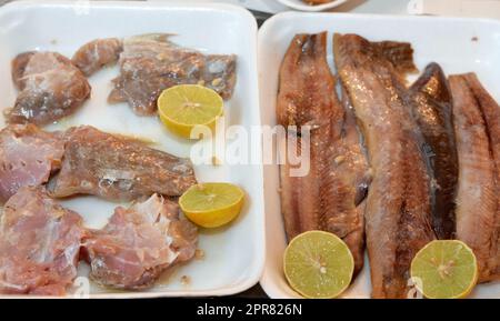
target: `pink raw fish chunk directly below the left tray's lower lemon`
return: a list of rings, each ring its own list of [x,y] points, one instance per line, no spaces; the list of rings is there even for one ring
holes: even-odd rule
[[[108,224],[83,241],[83,252],[98,284],[138,290],[191,260],[197,240],[197,228],[179,218],[179,205],[153,194],[129,209],[117,208]]]

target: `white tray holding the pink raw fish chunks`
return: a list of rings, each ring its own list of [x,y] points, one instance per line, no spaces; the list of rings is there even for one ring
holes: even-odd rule
[[[31,1],[7,4],[0,8],[0,106],[12,106],[16,99],[10,62],[22,51],[52,50],[71,57],[92,39],[151,32],[177,33],[172,41],[203,52],[236,53],[238,80],[234,96],[226,107],[226,123],[244,128],[260,123],[256,21],[244,9],[211,3]],[[149,138],[157,142],[158,149],[189,157],[193,143],[169,133],[156,117],[138,117],[126,103],[107,104],[110,80],[117,74],[118,67],[114,67],[92,76],[91,100],[76,116],[51,129],[92,124],[104,131]],[[252,143],[260,147],[261,142],[259,139]],[[204,258],[176,269],[168,280],[160,280],[152,289],[117,292],[91,283],[90,297],[226,295],[258,282],[264,259],[262,167],[197,167],[196,172],[202,182],[228,181],[247,191],[246,207],[237,221],[223,229],[201,230],[199,248],[204,251]],[[92,228],[102,227],[117,205],[93,197],[74,198],[63,204],[81,213]],[[81,275],[87,275],[86,264],[80,270]],[[182,275],[189,277],[188,284],[181,282]]]

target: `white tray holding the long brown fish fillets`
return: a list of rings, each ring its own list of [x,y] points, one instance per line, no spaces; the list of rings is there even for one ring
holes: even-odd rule
[[[500,101],[500,22],[481,19],[431,17],[360,16],[342,13],[284,12],[269,19],[259,31],[259,79],[262,124],[276,124],[278,72],[283,54],[296,33],[329,31],[328,60],[332,66],[332,32],[353,32],[371,40],[410,41],[416,63],[422,70],[436,61],[447,74],[476,71]],[[333,66],[332,66],[333,70]],[[334,71],[334,70],[333,70]],[[278,165],[264,167],[267,259],[262,279],[271,298],[299,298],[282,273],[286,248],[283,223],[278,194]],[[346,298],[369,298],[368,260],[361,274],[343,294]],[[500,282],[481,284],[472,298],[499,298]]]

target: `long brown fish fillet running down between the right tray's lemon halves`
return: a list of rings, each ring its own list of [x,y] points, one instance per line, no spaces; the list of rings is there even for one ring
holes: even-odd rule
[[[373,298],[407,298],[414,254],[436,235],[422,137],[406,103],[411,44],[334,34],[334,61],[364,137],[372,181],[366,234]]]

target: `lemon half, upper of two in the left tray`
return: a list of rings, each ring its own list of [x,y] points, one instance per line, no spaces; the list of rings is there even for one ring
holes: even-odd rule
[[[199,84],[179,84],[163,90],[158,98],[158,113],[170,131],[191,138],[196,126],[211,131],[223,113],[223,100],[213,90]]]

